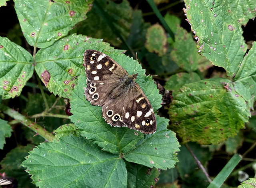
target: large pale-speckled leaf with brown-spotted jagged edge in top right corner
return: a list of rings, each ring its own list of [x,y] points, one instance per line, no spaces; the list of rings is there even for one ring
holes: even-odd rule
[[[255,17],[256,1],[208,1],[186,3],[185,14],[198,39],[199,53],[214,65],[226,69],[232,77],[239,69],[246,51],[242,24]]]

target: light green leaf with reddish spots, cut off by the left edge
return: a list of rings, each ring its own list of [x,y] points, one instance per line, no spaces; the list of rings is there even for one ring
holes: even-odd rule
[[[24,48],[0,37],[0,95],[3,99],[19,96],[33,75],[32,55]]]

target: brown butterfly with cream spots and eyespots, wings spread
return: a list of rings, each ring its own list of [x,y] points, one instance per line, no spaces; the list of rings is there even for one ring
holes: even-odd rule
[[[86,89],[92,105],[102,107],[102,117],[112,127],[128,127],[144,134],[156,131],[150,101],[128,72],[108,55],[93,49],[84,52]]]

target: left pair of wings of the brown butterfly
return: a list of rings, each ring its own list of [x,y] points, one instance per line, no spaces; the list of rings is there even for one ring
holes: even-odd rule
[[[102,106],[113,89],[120,84],[120,80],[128,75],[114,59],[92,49],[84,52],[84,66],[87,77],[84,94],[92,105]]]

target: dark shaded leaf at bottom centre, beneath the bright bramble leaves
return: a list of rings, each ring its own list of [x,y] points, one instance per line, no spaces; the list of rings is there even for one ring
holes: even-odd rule
[[[128,172],[128,188],[148,188],[153,187],[158,181],[158,169],[126,162]]]

